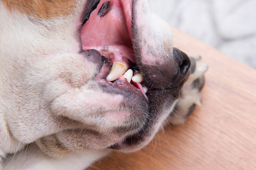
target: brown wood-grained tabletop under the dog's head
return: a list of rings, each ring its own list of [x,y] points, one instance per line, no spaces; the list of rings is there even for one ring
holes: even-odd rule
[[[174,47],[209,66],[202,106],[144,149],[115,151],[89,169],[256,169],[256,70],[174,28],[173,36]]]

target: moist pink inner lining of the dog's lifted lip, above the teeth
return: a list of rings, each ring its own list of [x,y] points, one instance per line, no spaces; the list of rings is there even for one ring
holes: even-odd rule
[[[101,1],[98,4],[81,30],[83,50],[96,49],[110,62],[122,61],[128,66],[127,58],[135,62],[130,36],[131,1],[109,0],[111,9],[100,17],[98,12],[104,2]],[[125,6],[125,11],[123,11],[123,6]],[[129,24],[129,28],[126,24]]]

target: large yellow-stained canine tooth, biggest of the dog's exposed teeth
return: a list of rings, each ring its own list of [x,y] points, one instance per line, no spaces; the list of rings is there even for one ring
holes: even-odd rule
[[[114,62],[110,73],[107,76],[108,81],[117,80],[127,70],[127,65],[124,62]]]

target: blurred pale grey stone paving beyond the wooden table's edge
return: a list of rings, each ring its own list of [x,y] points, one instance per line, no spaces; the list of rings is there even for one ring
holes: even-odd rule
[[[179,30],[256,69],[256,0],[148,0]]]

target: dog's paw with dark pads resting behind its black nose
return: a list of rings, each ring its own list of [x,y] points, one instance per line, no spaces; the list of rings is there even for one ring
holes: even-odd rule
[[[208,66],[200,63],[201,56],[190,57],[190,76],[180,91],[180,98],[167,122],[170,124],[184,123],[186,118],[194,111],[196,105],[201,106],[200,91],[204,86],[204,72]]]

